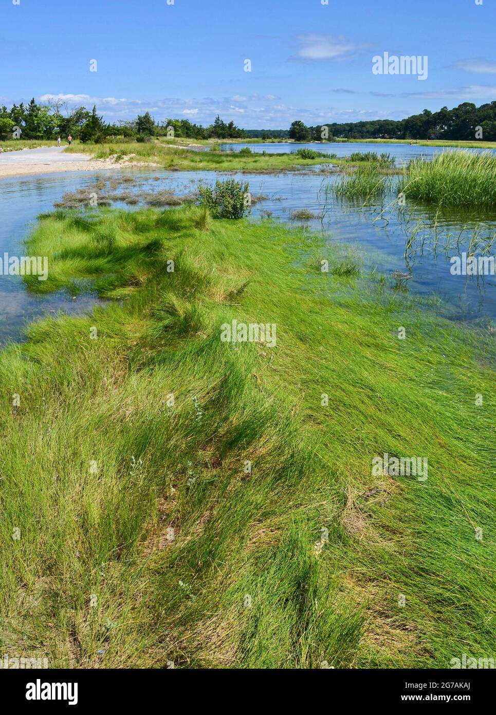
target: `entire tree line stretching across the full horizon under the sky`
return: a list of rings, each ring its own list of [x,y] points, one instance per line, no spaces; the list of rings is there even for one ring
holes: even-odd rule
[[[56,139],[57,136],[100,143],[116,137],[149,141],[152,137],[182,137],[185,139],[294,139],[297,142],[320,142],[327,139],[485,139],[496,141],[496,102],[476,107],[462,102],[458,107],[442,107],[439,112],[424,109],[406,119],[372,119],[367,122],[337,122],[311,127],[297,120],[288,129],[240,129],[234,122],[224,122],[219,116],[209,127],[193,124],[187,119],[166,119],[155,122],[146,112],[130,121],[107,124],[96,112],[85,107],[69,107],[59,101],[48,104],[14,104],[0,108],[0,139]]]

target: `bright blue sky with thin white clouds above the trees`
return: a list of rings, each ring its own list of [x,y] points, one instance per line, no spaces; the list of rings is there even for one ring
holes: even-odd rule
[[[496,99],[496,0],[15,1],[0,0],[2,104],[279,129]],[[385,51],[427,56],[427,79],[372,74]]]

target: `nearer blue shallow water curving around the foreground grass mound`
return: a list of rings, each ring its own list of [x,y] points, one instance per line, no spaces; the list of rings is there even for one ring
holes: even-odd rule
[[[344,146],[348,147],[349,151],[351,145]],[[364,147],[364,144],[359,144],[359,147]],[[151,192],[177,189],[179,194],[192,192],[198,182],[212,184],[218,178],[214,172],[134,169],[125,174],[112,170],[2,179],[0,255],[4,252],[11,256],[23,255],[23,240],[31,230],[36,216],[51,211],[54,201],[59,200],[62,194],[88,187],[98,179],[117,178],[122,175],[132,175],[139,179],[138,186],[130,185],[126,190]],[[442,315],[474,324],[496,319],[495,276],[487,276],[483,280],[477,280],[477,277],[453,276],[449,262],[450,256],[459,255],[464,247],[467,247],[474,230],[480,232],[481,238],[492,235],[496,231],[496,215],[476,212],[446,212],[436,215],[433,209],[413,207],[408,202],[404,215],[398,212],[397,207],[388,207],[387,201],[385,205],[362,207],[358,202],[326,195],[327,182],[339,181],[339,174],[323,177],[322,174],[308,172],[239,174],[235,177],[248,181],[250,192],[255,197],[257,194],[267,197],[252,207],[252,220],[260,220],[266,212],[271,212],[274,219],[323,231],[327,240],[339,247],[343,243],[352,247],[366,270],[377,268],[386,274],[394,270],[411,272],[412,278],[407,282],[409,292],[424,296],[432,293],[440,295],[445,300],[437,308]],[[291,214],[298,209],[309,209],[315,215],[324,213],[324,217],[322,220],[316,217],[304,223],[294,221]],[[414,227],[417,227],[415,245],[405,257],[405,245]],[[457,237],[458,246],[443,251],[448,235],[451,235],[450,242],[454,242]],[[495,252],[496,247],[491,254],[494,255]],[[0,345],[4,345],[9,339],[19,340],[25,323],[35,317],[50,311],[51,315],[54,315],[53,311],[57,310],[69,313],[85,312],[94,302],[94,297],[81,296],[73,299],[66,292],[34,297],[26,292],[22,277],[0,275]]]

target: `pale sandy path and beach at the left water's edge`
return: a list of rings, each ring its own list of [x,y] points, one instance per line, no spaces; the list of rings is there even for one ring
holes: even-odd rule
[[[90,159],[86,154],[64,154],[64,147],[21,149],[1,152],[0,179],[53,174],[54,172],[91,172],[98,169],[118,169],[112,159]]]

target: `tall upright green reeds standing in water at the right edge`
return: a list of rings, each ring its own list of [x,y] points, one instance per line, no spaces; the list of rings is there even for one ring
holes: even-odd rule
[[[496,205],[496,155],[443,152],[432,162],[414,159],[400,191],[408,198],[443,206]]]

